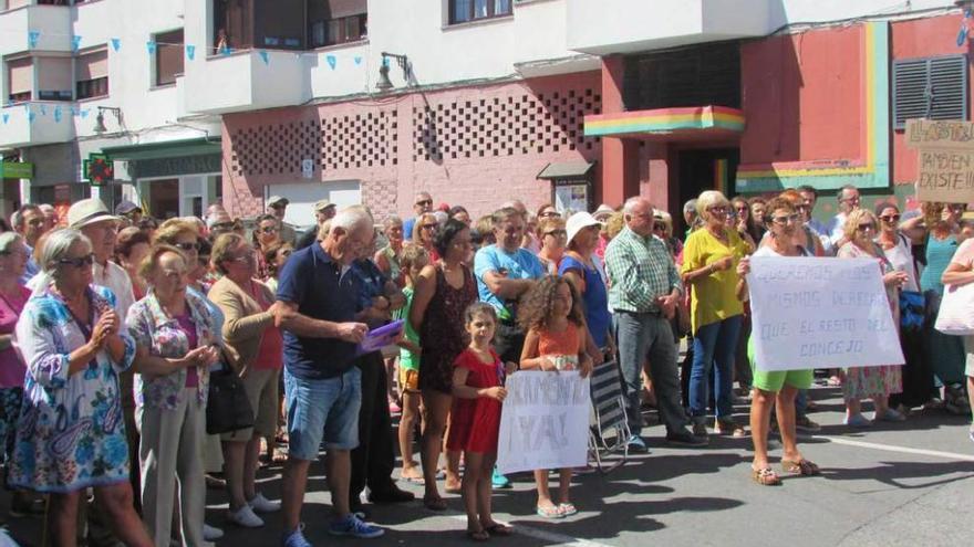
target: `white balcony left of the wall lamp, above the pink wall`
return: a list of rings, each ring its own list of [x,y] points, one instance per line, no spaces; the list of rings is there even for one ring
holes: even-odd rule
[[[180,112],[226,114],[303,103],[310,97],[303,64],[301,55],[272,50],[217,54],[203,63],[187,63],[177,82]]]

